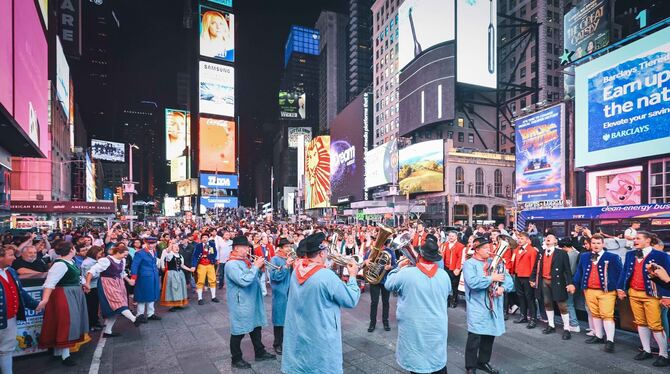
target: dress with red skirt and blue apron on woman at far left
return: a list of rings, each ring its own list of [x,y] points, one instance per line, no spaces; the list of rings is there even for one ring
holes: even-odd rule
[[[88,309],[81,288],[81,272],[76,265],[58,259],[67,266],[44,308],[39,348],[70,348],[76,352],[91,340],[88,335]]]

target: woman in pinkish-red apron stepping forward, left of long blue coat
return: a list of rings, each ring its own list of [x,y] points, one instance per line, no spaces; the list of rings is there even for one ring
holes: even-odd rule
[[[117,244],[110,250],[110,255],[102,257],[91,267],[86,274],[86,287],[90,290],[91,279],[98,279],[98,298],[100,299],[100,310],[105,317],[105,329],[102,336],[113,338],[119,336],[112,332],[112,327],[119,314],[128,318],[135,326],[139,321],[128,309],[128,294],[123,281],[130,281],[125,272],[126,256],[128,256],[128,247],[123,244]]]

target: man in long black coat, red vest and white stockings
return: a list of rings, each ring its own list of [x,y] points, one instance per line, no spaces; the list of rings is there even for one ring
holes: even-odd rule
[[[571,338],[570,314],[568,313],[568,286],[572,285],[572,271],[570,270],[570,259],[565,251],[556,247],[558,240],[553,234],[544,239],[544,251],[537,255],[533,272],[530,275],[531,287],[536,293],[542,293],[544,307],[547,311],[547,327],[542,330],[543,334],[556,332],[554,322],[554,301],[563,319],[563,340]]]

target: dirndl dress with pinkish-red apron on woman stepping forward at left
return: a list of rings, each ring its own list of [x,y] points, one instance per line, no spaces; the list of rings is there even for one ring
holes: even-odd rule
[[[109,267],[100,273],[98,280],[98,295],[102,316],[109,318],[128,310],[128,294],[123,283],[125,261],[115,262],[108,256]]]

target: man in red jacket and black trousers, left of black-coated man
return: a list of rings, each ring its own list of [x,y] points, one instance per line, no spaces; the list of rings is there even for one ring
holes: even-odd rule
[[[529,329],[537,326],[535,309],[535,290],[530,286],[530,274],[537,258],[537,249],[530,244],[530,237],[525,232],[517,234],[519,247],[512,256],[514,274],[516,274],[514,288],[519,299],[521,318],[514,323],[527,323]]]

